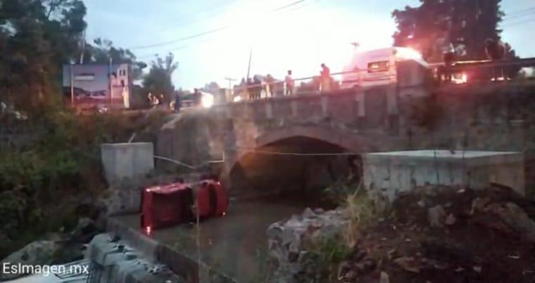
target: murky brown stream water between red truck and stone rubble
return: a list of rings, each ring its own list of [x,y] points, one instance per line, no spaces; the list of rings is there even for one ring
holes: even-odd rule
[[[199,228],[201,261],[239,282],[258,282],[260,262],[267,260],[266,230],[270,224],[301,214],[296,204],[232,203],[225,217],[208,219]],[[180,225],[153,232],[158,241],[197,258],[195,225]]]

